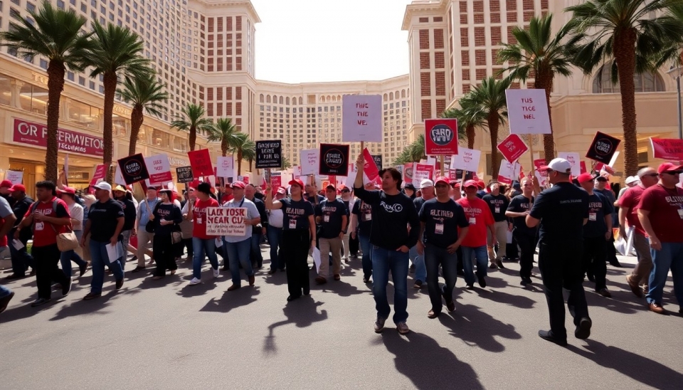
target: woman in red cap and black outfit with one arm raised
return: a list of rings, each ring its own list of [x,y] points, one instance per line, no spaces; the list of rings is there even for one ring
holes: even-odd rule
[[[270,184],[265,189],[265,207],[268,210],[282,209],[282,256],[287,266],[287,289],[290,296],[287,301],[295,300],[301,295],[309,295],[310,280],[308,278],[308,251],[315,246],[315,221],[313,205],[302,197],[304,182],[295,179],[290,181],[290,198],[283,198],[273,203]]]

